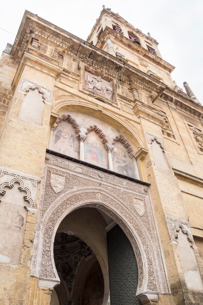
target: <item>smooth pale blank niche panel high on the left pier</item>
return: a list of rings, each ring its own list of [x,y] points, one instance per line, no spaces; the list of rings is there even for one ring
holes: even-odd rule
[[[44,115],[44,97],[43,93],[36,87],[30,88],[24,95],[19,118],[36,125],[42,125]]]

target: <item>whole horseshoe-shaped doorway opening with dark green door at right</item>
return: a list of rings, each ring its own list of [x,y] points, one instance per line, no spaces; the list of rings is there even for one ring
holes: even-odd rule
[[[68,214],[55,234],[54,260],[60,285],[51,305],[141,304],[134,251],[104,211],[85,207]]]

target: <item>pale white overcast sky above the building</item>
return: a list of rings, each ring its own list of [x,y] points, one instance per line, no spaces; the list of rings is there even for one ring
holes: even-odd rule
[[[13,44],[25,9],[86,39],[102,5],[158,42],[163,59],[174,65],[172,78],[187,81],[203,104],[203,0],[19,0],[3,1],[0,54]]]

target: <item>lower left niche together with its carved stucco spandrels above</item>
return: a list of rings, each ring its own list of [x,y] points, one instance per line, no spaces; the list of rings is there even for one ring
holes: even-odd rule
[[[26,210],[33,209],[37,181],[37,177],[0,168],[1,262],[19,262],[27,218]]]

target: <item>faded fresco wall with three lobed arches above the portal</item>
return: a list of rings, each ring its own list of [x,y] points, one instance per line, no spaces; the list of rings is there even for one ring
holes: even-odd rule
[[[64,112],[59,116],[52,133],[49,147],[51,150],[79,159],[79,141],[82,137],[84,161],[105,169],[110,169],[108,149],[111,147],[111,170],[135,178],[129,141],[124,141],[124,136],[118,130],[101,119],[85,113]]]

